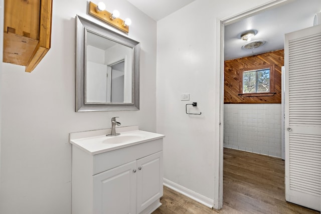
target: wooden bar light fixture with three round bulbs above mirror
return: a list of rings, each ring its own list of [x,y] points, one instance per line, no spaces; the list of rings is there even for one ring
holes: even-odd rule
[[[105,11],[106,6],[104,3],[100,2],[98,5],[95,5],[92,2],[89,2],[89,11],[88,13],[95,18],[113,26],[114,28],[117,28],[118,30],[121,30],[125,33],[129,32],[129,25],[131,24],[130,19],[126,19],[125,21],[118,18],[119,12],[117,10],[114,10],[112,13],[109,13],[108,11]]]

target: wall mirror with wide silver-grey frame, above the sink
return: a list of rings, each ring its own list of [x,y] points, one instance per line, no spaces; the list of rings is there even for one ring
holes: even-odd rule
[[[139,43],[76,17],[76,111],[139,110]]]

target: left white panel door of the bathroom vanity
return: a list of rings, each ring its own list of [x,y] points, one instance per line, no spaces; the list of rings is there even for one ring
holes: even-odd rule
[[[136,161],[93,176],[95,214],[136,213]]]

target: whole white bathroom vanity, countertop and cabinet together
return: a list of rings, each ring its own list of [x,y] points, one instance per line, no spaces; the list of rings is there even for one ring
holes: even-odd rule
[[[72,213],[151,213],[163,195],[163,137],[117,128],[70,134]]]

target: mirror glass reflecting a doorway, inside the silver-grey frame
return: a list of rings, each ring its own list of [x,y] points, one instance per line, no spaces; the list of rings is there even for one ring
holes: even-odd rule
[[[87,32],[86,49],[86,103],[131,103],[131,48]]]

